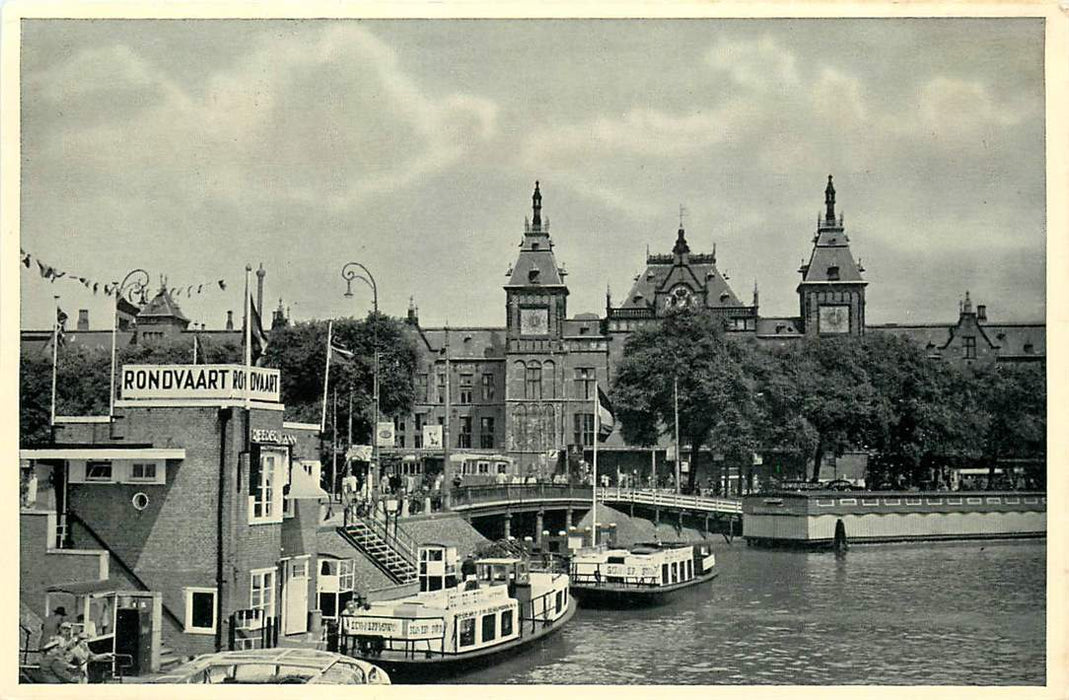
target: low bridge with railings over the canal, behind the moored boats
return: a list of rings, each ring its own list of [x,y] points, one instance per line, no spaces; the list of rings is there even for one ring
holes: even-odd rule
[[[538,536],[547,525],[546,517],[553,522],[549,529],[566,529],[575,525],[576,512],[590,510],[593,499],[593,488],[571,484],[493,484],[484,486],[462,486],[455,488],[450,497],[450,510],[464,515],[467,519],[500,518],[502,534],[509,536],[512,532],[512,520],[515,517],[520,530],[533,530]],[[732,532],[737,532],[737,522],[742,519],[742,502],[730,498],[710,498],[706,496],[684,496],[670,492],[645,488],[599,488],[598,502],[615,507],[625,505],[634,515],[638,509],[661,520],[662,514],[675,515],[680,525],[684,516],[696,519],[699,526],[709,530],[710,520],[728,523]],[[534,518],[531,518],[531,515]],[[560,517],[563,515],[563,518]]]

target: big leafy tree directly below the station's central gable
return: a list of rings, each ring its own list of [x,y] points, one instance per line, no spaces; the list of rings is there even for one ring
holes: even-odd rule
[[[745,372],[753,352],[748,344],[729,341],[718,321],[698,311],[671,313],[635,332],[624,345],[611,391],[624,439],[650,447],[675,432],[678,384],[679,432],[691,445],[693,465],[688,488],[694,488],[703,446],[729,460],[748,460],[757,445],[754,382]]]

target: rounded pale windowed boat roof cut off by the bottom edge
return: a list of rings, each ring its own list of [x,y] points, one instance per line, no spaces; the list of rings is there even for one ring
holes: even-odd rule
[[[374,664],[314,649],[253,649],[204,654],[153,683],[389,685]]]

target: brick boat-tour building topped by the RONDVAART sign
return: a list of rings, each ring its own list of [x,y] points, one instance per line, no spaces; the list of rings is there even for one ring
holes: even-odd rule
[[[326,496],[319,426],[283,422],[277,370],[128,365],[120,379],[113,417],[61,418],[51,444],[22,446],[40,484],[24,523],[48,523],[47,553],[102,556],[97,587],[157,593],[177,656],[303,638]],[[24,577],[41,561],[24,553]],[[41,586],[20,593],[44,617]]]

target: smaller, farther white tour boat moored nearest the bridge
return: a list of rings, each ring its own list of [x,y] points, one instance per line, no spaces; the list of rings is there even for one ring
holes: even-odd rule
[[[572,592],[590,607],[656,605],[716,577],[708,543],[580,549],[571,558]]]

